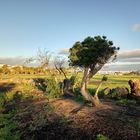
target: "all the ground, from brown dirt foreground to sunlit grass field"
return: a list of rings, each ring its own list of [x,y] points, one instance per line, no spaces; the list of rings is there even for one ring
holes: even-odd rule
[[[78,75],[80,81],[82,74]],[[103,75],[95,75],[89,83],[94,92]],[[100,92],[109,87],[127,87],[128,80],[139,75],[107,75]],[[1,75],[0,139],[50,140],[98,139],[134,140],[140,138],[140,103],[129,99],[101,97],[103,106],[83,106],[80,95],[52,98],[33,85],[33,78],[48,75]],[[62,77],[60,77],[62,78]],[[130,90],[130,89],[129,89]],[[79,94],[75,93],[75,94]],[[75,100],[75,98],[78,98]]]

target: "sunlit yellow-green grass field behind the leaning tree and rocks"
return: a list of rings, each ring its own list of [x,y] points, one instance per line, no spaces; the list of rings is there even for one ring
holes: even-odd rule
[[[48,75],[41,75],[41,74],[38,74],[38,75],[32,75],[32,74],[14,74],[14,75],[0,75],[0,78],[3,79],[3,80],[9,80],[10,79],[30,79],[30,78],[47,78],[49,77],[49,74]],[[96,88],[96,86],[98,85],[98,82],[101,81],[103,75],[99,75],[99,74],[96,74],[92,80],[91,80],[91,83],[89,85],[89,87],[93,87],[93,88]],[[108,80],[107,82],[105,82],[103,84],[103,88],[104,87],[110,87],[110,88],[113,88],[113,87],[117,87],[117,86],[126,86],[126,87],[129,87],[128,86],[128,80],[130,79],[140,79],[140,75],[107,75],[108,77]],[[82,74],[78,74],[78,79],[81,80],[82,78]]]

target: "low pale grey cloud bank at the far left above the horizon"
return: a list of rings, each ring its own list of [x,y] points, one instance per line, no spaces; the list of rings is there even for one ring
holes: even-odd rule
[[[0,64],[8,65],[22,65],[25,62],[26,58],[18,57],[0,57]]]

